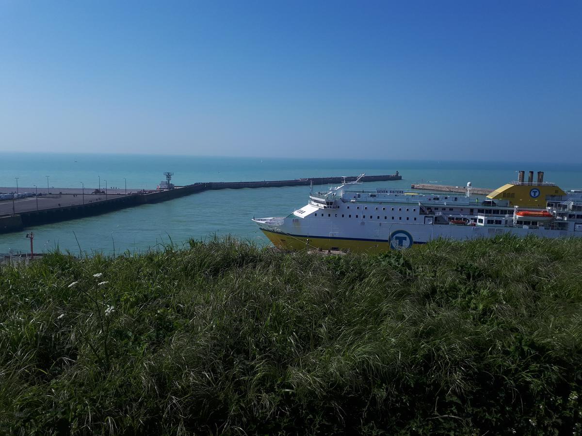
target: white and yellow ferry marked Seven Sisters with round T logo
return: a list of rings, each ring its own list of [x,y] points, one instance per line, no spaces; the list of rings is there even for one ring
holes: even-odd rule
[[[382,252],[445,238],[473,240],[501,234],[582,237],[582,190],[565,192],[544,173],[519,171],[489,195],[400,189],[361,189],[356,181],[313,192],[285,217],[253,218],[281,249]]]

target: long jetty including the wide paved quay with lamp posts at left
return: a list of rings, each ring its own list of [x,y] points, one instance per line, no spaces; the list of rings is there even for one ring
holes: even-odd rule
[[[295,180],[268,180],[268,181],[241,181],[241,182],[207,182],[175,187],[172,190],[136,191],[125,189],[107,190],[107,194],[82,194],[79,188],[51,188],[50,194],[31,196],[28,198],[5,199],[0,201],[0,233],[20,231],[24,227],[38,226],[41,224],[55,223],[86,216],[100,215],[132,206],[146,203],[157,203],[179,198],[197,192],[220,189],[243,188],[271,188],[283,186],[308,186],[339,184],[356,180],[356,176],[350,177],[312,177],[298,178]],[[391,181],[402,180],[402,176],[396,174],[385,176],[364,176],[361,181]],[[19,192],[34,192],[31,188],[19,188]],[[16,192],[16,188],[0,188],[0,192]],[[91,188],[93,192],[93,188]]]

